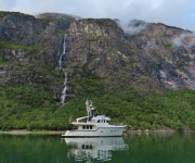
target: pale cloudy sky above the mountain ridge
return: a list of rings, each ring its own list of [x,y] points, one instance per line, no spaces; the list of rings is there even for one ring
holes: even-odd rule
[[[56,12],[86,17],[132,18],[195,32],[195,0],[0,0],[1,11]]]

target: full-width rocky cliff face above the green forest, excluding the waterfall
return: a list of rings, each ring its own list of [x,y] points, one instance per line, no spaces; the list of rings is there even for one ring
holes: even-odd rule
[[[195,37],[188,30],[136,20],[121,28],[108,18],[37,17],[1,12],[1,85],[40,87],[57,101],[63,72],[69,95],[84,91],[77,80],[90,75],[100,77],[106,91],[195,89]]]

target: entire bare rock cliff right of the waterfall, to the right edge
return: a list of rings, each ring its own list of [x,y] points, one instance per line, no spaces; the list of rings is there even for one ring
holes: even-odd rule
[[[191,32],[136,20],[123,30],[112,20],[74,22],[65,65],[86,65],[89,73],[105,77],[107,88],[117,91],[195,88],[195,38]]]

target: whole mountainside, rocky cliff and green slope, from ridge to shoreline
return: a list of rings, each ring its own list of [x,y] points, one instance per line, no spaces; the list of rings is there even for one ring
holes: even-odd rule
[[[108,99],[107,108],[113,106],[113,110],[101,104],[99,106],[103,108],[103,113],[114,116],[116,122],[136,120],[135,126],[142,126],[143,129],[148,124],[141,122],[150,123],[150,128],[160,128],[161,123],[172,127],[172,123],[176,124],[172,128],[179,126],[178,129],[181,129],[186,122],[183,116],[180,118],[178,110],[172,109],[177,117],[174,122],[167,114],[168,111],[165,113],[161,110],[179,103],[186,115],[192,112],[193,116],[194,111],[188,108],[193,108],[194,103],[191,98],[183,100],[181,90],[178,95],[171,91],[174,100],[166,105],[162,101],[169,101],[167,99],[171,96],[167,98],[162,92],[179,88],[195,89],[194,55],[195,37],[192,32],[160,23],[133,20],[127,26],[120,26],[118,21],[109,18],[80,18],[55,13],[34,17],[17,12],[0,12],[0,85],[4,97],[1,109],[6,113],[6,116],[2,114],[0,121],[2,123],[11,116],[17,122],[16,112],[20,120],[25,118],[17,128],[27,127],[26,124],[31,120],[35,122],[28,128],[40,129],[41,120],[44,120],[42,128],[51,129],[54,124],[53,128],[61,126],[62,129],[73,108],[75,116],[84,113],[76,109],[81,104],[79,99],[83,102],[86,98],[92,97],[104,104],[103,101]],[[66,104],[62,106],[61,96],[66,85]],[[40,95],[38,90],[41,90]],[[193,97],[193,91],[183,91]],[[28,101],[30,93],[26,92],[34,92],[34,98],[29,100],[31,102]],[[34,96],[36,93],[38,97]],[[30,104],[39,96],[42,104]],[[159,101],[158,105],[154,105],[154,99]],[[10,100],[13,104],[9,106]],[[122,103],[122,100],[126,101],[123,105],[127,106],[123,109],[127,113],[117,104]],[[74,104],[74,101],[77,102]],[[20,109],[25,106],[29,110]],[[50,113],[50,125],[41,108]],[[39,117],[38,112],[42,116]],[[155,123],[145,116],[139,117],[139,114],[154,117]],[[31,118],[26,120],[26,116]],[[39,122],[37,127],[36,121]],[[6,124],[3,126],[9,128]],[[13,124],[11,126],[16,128]]]

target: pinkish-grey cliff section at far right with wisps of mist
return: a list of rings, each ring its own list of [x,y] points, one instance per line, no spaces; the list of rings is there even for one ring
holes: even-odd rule
[[[145,71],[161,85],[195,89],[195,37],[192,32],[159,23],[147,24],[138,35],[128,36],[128,40],[140,48]]]

